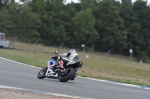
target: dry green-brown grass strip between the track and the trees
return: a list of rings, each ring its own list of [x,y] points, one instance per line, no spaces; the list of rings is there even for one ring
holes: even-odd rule
[[[45,67],[47,61],[54,56],[54,54],[43,53],[42,51],[54,52],[57,50],[55,47],[44,48],[39,46],[38,49],[40,49],[40,51],[34,52],[31,50],[34,49],[34,45],[27,47],[28,45],[21,44],[21,46],[26,46],[26,50],[29,51],[0,49],[0,57],[25,64]],[[65,51],[66,49],[62,49],[62,52]],[[85,58],[82,52],[78,53],[80,60],[84,63],[83,68],[78,71],[80,76],[150,86],[150,64],[140,64],[140,62],[130,62],[129,60],[112,57],[104,59],[104,55],[100,53],[86,53],[89,55],[89,58]]]

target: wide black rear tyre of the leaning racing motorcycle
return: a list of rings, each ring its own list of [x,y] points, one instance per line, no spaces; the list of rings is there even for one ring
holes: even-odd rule
[[[69,68],[65,75],[59,75],[60,82],[67,82],[75,77],[75,70],[73,68]]]

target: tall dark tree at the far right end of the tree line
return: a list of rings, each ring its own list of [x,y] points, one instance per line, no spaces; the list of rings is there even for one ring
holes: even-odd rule
[[[139,42],[136,44],[139,46],[138,56],[147,57],[150,56],[150,7],[147,6],[147,1],[137,0],[133,10],[137,15],[136,21],[140,24],[137,37]]]

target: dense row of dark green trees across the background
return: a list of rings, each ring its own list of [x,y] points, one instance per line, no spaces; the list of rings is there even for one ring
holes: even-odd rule
[[[136,0],[0,0],[0,32],[30,42],[150,59],[150,6]]]

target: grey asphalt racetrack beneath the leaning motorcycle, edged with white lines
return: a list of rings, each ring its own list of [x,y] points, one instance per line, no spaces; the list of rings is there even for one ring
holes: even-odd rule
[[[77,77],[66,83],[38,79],[40,68],[0,58],[0,85],[94,99],[150,99],[150,90]]]

